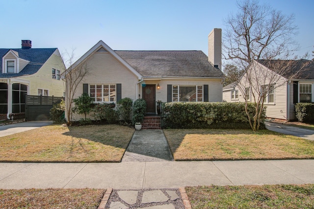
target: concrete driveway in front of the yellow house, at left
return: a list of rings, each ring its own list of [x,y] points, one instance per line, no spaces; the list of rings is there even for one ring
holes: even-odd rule
[[[52,121],[27,121],[0,126],[0,137],[51,125]]]

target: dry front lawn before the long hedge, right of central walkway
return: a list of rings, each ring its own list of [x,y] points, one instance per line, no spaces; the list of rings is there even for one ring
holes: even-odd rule
[[[164,129],[176,161],[314,159],[314,141],[268,130]]]

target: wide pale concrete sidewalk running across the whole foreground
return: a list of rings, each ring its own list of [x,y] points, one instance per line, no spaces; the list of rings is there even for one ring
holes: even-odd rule
[[[314,160],[0,163],[0,188],[314,184]]]

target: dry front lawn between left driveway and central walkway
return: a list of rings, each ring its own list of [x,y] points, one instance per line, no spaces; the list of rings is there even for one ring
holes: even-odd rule
[[[0,162],[120,162],[134,129],[50,125],[0,138]]]

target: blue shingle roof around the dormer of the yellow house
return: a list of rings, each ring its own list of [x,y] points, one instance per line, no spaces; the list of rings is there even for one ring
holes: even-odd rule
[[[2,57],[10,49],[12,49],[19,58],[29,61],[25,68],[19,73],[2,73]],[[21,75],[34,74],[44,65],[56,49],[57,48],[0,48],[0,78],[11,78]]]

